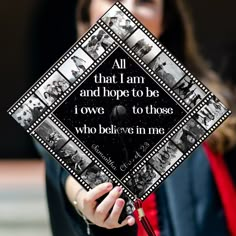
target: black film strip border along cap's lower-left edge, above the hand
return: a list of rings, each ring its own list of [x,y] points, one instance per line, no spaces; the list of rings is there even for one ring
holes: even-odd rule
[[[43,133],[43,131],[41,129],[41,127],[45,127],[44,129],[49,128],[49,127],[46,127],[44,125],[44,123],[48,124],[48,126],[53,127],[54,129],[57,129],[57,131],[60,132],[60,135],[62,137],[64,137],[63,138],[63,145],[60,146],[60,144],[59,144],[59,148],[57,148],[56,151],[55,151],[55,147],[52,148],[49,146],[48,143],[50,142],[50,140],[46,140],[47,138],[45,137],[45,134]],[[92,189],[94,186],[91,186],[92,183],[86,183],[83,180],[83,178],[81,178],[80,176],[83,175],[83,173],[85,173],[88,168],[95,165],[97,169],[100,169],[101,171],[104,172],[104,174],[107,176],[107,178],[109,178],[109,180],[111,180],[117,186],[122,186],[124,193],[130,199],[134,200],[133,195],[129,191],[127,186],[122,184],[122,182],[119,181],[110,172],[110,170],[108,168],[106,168],[101,163],[101,161],[98,158],[96,158],[93,154],[91,154],[91,152],[84,145],[82,145],[77,138],[75,138],[75,136],[61,123],[60,120],[57,119],[57,117],[55,115],[50,114],[38,127],[35,128],[35,130],[31,133],[31,135],[33,137],[35,137],[53,155],[53,157],[57,161],[59,161],[63,165],[63,167],[67,171],[69,171],[71,173],[71,175],[73,175],[85,187],[86,190]],[[60,152],[60,150],[62,150],[70,142],[75,144],[76,147],[79,148],[83,152],[83,154],[85,155],[84,156],[85,159],[87,159],[88,165],[86,166],[86,168],[84,168],[84,169],[82,169],[82,171],[80,171],[80,174],[78,174],[78,171],[76,173],[68,164],[66,164],[66,161],[63,160],[63,158],[60,157],[58,154]]]

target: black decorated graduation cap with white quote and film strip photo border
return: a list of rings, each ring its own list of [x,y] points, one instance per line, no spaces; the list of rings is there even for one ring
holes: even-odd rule
[[[129,29],[112,27],[106,20],[108,16],[129,21]],[[101,32],[106,37],[97,37]],[[103,40],[106,40],[105,44]],[[87,47],[89,42],[94,42],[90,43],[91,47]],[[144,50],[147,46],[151,50]],[[83,68],[81,73],[76,73],[78,65],[71,60],[75,58],[83,59],[79,63]],[[162,68],[164,73],[156,68]],[[186,79],[194,85],[194,90],[189,92],[201,94],[194,107],[179,90],[173,89]],[[47,90],[45,84],[51,86],[57,80],[69,86],[49,106],[43,94],[55,94]],[[56,85],[54,89],[57,89]],[[18,108],[32,94],[41,99],[47,109],[26,127],[27,132],[44,145],[85,189],[96,185],[88,176],[95,175],[99,180],[97,184],[111,181],[122,186],[124,197],[132,201],[146,199],[230,114],[119,2],[9,109],[9,114],[16,119]],[[197,141],[186,152],[179,150],[179,154],[160,171],[155,165],[158,163],[151,159],[168,142],[178,149],[176,134],[209,101],[220,103],[224,112],[217,120],[211,121],[208,129],[202,127],[203,132]],[[48,143],[49,126],[52,126],[54,136],[60,137],[53,145]],[[75,147],[84,154],[80,158],[84,164],[76,168],[78,172],[63,156],[67,147],[70,151]],[[136,202],[136,205],[140,203]]]

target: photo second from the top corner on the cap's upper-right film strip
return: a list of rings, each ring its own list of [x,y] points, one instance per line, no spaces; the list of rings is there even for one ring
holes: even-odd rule
[[[146,64],[153,60],[161,49],[140,29],[135,31],[127,40],[129,47]]]

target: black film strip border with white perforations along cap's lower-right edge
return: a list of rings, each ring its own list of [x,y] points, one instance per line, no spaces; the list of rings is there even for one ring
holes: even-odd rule
[[[149,194],[151,194],[156,188],[159,187],[159,185],[180,165],[183,163],[185,159],[189,157],[189,155],[231,114],[231,111],[227,110],[225,111],[224,115],[222,115],[208,130],[202,127],[202,125],[196,121],[195,115],[204,107],[204,105],[207,104],[210,99],[215,97],[213,94],[211,96],[208,96],[205,102],[203,102],[184,122],[181,123],[181,126],[176,128],[172,134],[168,138],[166,138],[152,153],[146,157],[146,159],[140,163],[138,166],[134,167],[130,172],[129,175],[123,180],[123,182],[127,185],[129,181],[134,178],[135,174],[139,173],[146,165],[151,166],[152,169],[155,170],[158,174],[158,178],[156,179],[155,183],[152,183],[148,189],[145,191],[145,193],[142,194],[142,196],[139,196],[142,200],[146,199]],[[177,149],[180,149],[179,146],[177,146],[172,138],[174,135],[176,135],[191,119],[193,119],[198,126],[200,126],[205,132],[204,134],[189,148],[187,151],[179,150],[182,152],[181,156],[177,158],[177,160],[170,166],[164,173],[160,173],[156,167],[153,167],[153,164],[151,164],[149,161],[156,155],[158,152],[168,143],[171,142],[174,146],[176,146]],[[133,183],[132,183],[133,184]],[[129,186],[129,185],[128,185]],[[137,193],[134,193],[137,194]]]

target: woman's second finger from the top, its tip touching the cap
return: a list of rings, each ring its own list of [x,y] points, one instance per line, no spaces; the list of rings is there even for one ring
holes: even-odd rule
[[[112,191],[106,196],[106,198],[97,206],[95,210],[95,217],[98,217],[100,220],[105,221],[110,209],[115,204],[117,198],[120,197],[121,193],[121,187],[117,186],[112,189]]]

